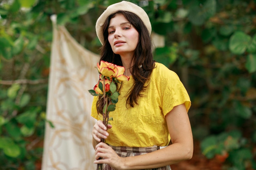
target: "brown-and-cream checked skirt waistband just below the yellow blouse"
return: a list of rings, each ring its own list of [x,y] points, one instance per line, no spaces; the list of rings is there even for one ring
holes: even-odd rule
[[[109,144],[108,144],[109,145]],[[112,145],[109,145],[111,148],[113,148],[116,152],[127,152],[127,153],[149,153],[156,151],[160,149],[159,146],[153,146],[153,147],[115,147]]]

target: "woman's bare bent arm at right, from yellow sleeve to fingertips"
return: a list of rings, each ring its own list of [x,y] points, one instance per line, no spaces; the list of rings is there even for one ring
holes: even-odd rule
[[[148,154],[123,158],[119,157],[108,145],[99,143],[96,146],[95,158],[103,157],[104,159],[94,161],[94,163],[106,163],[118,170],[150,169],[191,159],[193,137],[185,105],[175,106],[165,118],[172,138],[172,145]]]

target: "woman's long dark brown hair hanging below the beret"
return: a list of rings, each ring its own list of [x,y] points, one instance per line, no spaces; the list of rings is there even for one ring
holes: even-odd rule
[[[132,68],[130,68],[130,72],[133,76],[134,83],[133,86],[130,88],[130,91],[127,94],[126,99],[126,104],[129,104],[131,107],[134,107],[135,104],[138,104],[139,97],[143,96],[141,92],[145,91],[145,83],[149,79],[152,70],[155,67],[155,61],[153,60],[152,52],[153,46],[150,33],[148,32],[143,21],[136,14],[127,11],[117,11],[116,13],[111,14],[106,19],[103,25],[104,43],[101,47],[100,61],[103,60],[116,64],[118,66],[123,66],[120,55],[113,53],[111,45],[108,41],[109,23],[111,18],[113,18],[116,14],[122,14],[125,17],[125,19],[127,19],[139,33],[138,44],[132,58],[132,62],[134,62],[134,65]],[[142,67],[140,67],[141,65]],[[102,109],[103,100],[101,100],[100,97],[97,101],[98,113],[102,114]]]

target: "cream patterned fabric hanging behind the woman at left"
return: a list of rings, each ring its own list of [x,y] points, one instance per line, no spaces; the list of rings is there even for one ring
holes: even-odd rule
[[[98,55],[84,49],[63,26],[53,22],[53,42],[42,170],[94,170],[91,131],[93,96],[98,81]]]

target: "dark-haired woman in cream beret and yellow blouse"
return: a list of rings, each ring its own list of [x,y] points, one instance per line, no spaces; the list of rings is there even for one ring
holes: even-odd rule
[[[154,62],[145,11],[125,1],[110,5],[97,20],[96,32],[103,44],[100,60],[125,67],[130,80],[119,86],[119,101],[107,127],[101,121],[101,100],[94,98],[94,163],[109,170],[170,170],[169,165],[191,159],[191,102],[179,77]]]

